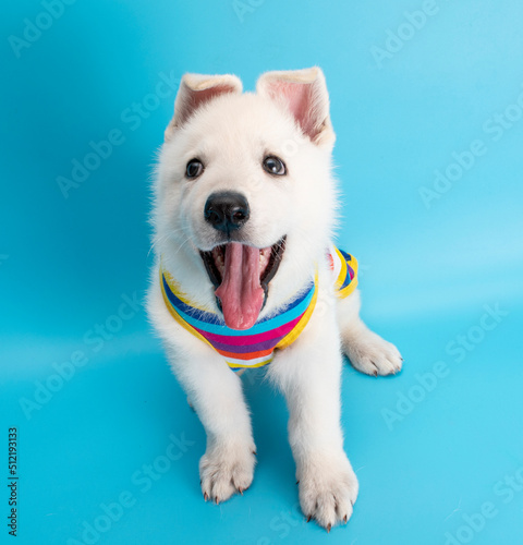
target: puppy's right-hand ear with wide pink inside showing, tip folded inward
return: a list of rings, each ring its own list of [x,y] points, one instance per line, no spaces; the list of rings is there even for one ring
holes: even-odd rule
[[[267,72],[259,77],[256,92],[282,104],[314,144],[335,143],[336,135],[329,116],[329,94],[319,68]]]

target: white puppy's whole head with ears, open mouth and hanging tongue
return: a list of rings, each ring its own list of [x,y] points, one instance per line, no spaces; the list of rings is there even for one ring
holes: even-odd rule
[[[158,166],[157,247],[229,327],[252,327],[314,274],[333,222],[333,142],[317,68],[266,73],[256,94],[233,75],[183,77]]]

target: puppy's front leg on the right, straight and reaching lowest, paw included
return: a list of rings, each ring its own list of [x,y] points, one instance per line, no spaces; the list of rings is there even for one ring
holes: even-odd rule
[[[302,510],[307,521],[314,518],[327,531],[349,520],[357,496],[340,426],[341,364],[336,316],[318,313],[268,372],[289,405]]]

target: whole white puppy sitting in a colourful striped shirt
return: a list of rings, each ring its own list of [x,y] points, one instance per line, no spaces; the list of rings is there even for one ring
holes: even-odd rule
[[[340,427],[342,352],[369,375],[398,350],[358,317],[357,262],[332,246],[335,133],[318,68],[186,74],[155,180],[148,312],[207,433],[204,498],[243,493],[256,447],[239,370],[269,363],[287,398],[300,502],[330,530],[357,480]]]

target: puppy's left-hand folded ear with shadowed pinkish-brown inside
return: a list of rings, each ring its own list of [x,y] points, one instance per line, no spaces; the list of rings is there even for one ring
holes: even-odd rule
[[[226,93],[242,93],[242,82],[235,75],[184,74],[174,101],[174,116],[166,129],[166,142],[202,105]]]

